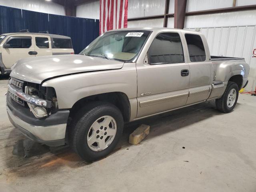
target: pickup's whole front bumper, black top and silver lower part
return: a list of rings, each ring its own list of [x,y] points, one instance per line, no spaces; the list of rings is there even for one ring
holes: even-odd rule
[[[35,118],[29,108],[21,106],[6,95],[6,109],[10,122],[25,136],[48,146],[65,144],[69,110],[58,111],[46,118]]]

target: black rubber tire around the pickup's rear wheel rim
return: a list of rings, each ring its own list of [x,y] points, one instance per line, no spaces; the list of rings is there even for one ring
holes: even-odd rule
[[[236,100],[235,100],[233,106],[229,107],[227,104],[227,100],[228,100],[228,94],[232,89],[236,90]],[[216,101],[215,101],[217,109],[223,113],[230,113],[236,106],[236,102],[238,100],[238,92],[239,92],[238,85],[234,82],[228,82],[226,90],[223,93],[222,97],[219,99],[216,99]]]

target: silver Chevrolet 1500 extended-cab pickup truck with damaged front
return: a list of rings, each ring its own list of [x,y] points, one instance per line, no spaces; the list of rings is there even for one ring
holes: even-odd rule
[[[93,161],[114,149],[124,122],[214,99],[218,110],[231,112],[248,73],[244,58],[210,56],[198,32],[112,30],[78,55],[19,60],[6,108],[28,138],[68,143]]]

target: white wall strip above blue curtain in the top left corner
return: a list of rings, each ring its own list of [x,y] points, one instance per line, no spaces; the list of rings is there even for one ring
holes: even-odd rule
[[[0,5],[42,13],[65,15],[64,6],[45,0],[0,0]]]

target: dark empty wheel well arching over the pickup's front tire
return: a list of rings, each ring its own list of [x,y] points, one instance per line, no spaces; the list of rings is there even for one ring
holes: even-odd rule
[[[122,112],[124,122],[128,122],[130,120],[130,102],[126,94],[122,92],[110,92],[82,98],[72,106],[70,109],[70,114],[74,114],[77,110],[86,105],[86,103],[92,101],[105,101],[112,103]]]

